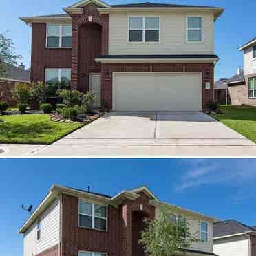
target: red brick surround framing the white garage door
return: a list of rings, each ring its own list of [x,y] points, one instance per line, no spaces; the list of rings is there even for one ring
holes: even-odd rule
[[[105,75],[105,71],[109,75]],[[141,63],[141,64],[103,64],[101,66],[101,95],[105,103],[112,109],[112,72],[202,72],[202,107],[206,111],[207,103],[214,99],[213,95],[213,63]],[[204,84],[211,83],[211,89],[205,89]]]

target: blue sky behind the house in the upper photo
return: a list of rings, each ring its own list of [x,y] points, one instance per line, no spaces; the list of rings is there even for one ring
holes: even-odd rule
[[[132,3],[142,0],[109,0],[107,3]],[[155,0],[151,0],[155,1]],[[31,28],[18,17],[62,13],[62,8],[70,6],[76,0],[10,0],[3,1],[0,8],[0,33],[14,41],[17,54],[23,56],[23,63],[30,67]],[[243,65],[242,52],[237,49],[256,36],[256,1],[252,0],[160,0],[157,3],[177,3],[220,6],[225,8],[222,17],[215,23],[215,54],[220,62],[215,69],[215,78],[228,78]]]

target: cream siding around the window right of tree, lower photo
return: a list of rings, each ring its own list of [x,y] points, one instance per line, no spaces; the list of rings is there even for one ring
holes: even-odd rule
[[[171,212],[175,213],[175,212]],[[182,213],[178,213],[182,215]],[[156,208],[156,217],[160,215],[160,209]],[[190,224],[190,232],[193,235],[198,235],[198,238],[200,238],[200,222],[206,222],[208,223],[209,228],[209,237],[208,242],[198,242],[192,244],[190,249],[192,250],[202,250],[212,253],[213,252],[213,222],[209,222],[209,220],[204,220],[204,218],[199,219],[198,217],[195,217],[195,215],[188,215],[187,213],[184,214],[184,217],[186,217],[186,220]]]

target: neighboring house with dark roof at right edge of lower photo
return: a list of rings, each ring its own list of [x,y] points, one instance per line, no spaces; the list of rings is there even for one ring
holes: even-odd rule
[[[255,256],[256,229],[236,220],[213,226],[213,253],[218,256]]]

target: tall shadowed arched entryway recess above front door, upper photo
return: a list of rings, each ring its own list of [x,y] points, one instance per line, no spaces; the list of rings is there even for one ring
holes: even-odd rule
[[[78,28],[78,89],[87,92],[92,74],[100,76],[100,64],[95,58],[102,52],[102,26],[86,22]],[[93,82],[95,83],[95,82]],[[96,82],[97,83],[97,82]]]

